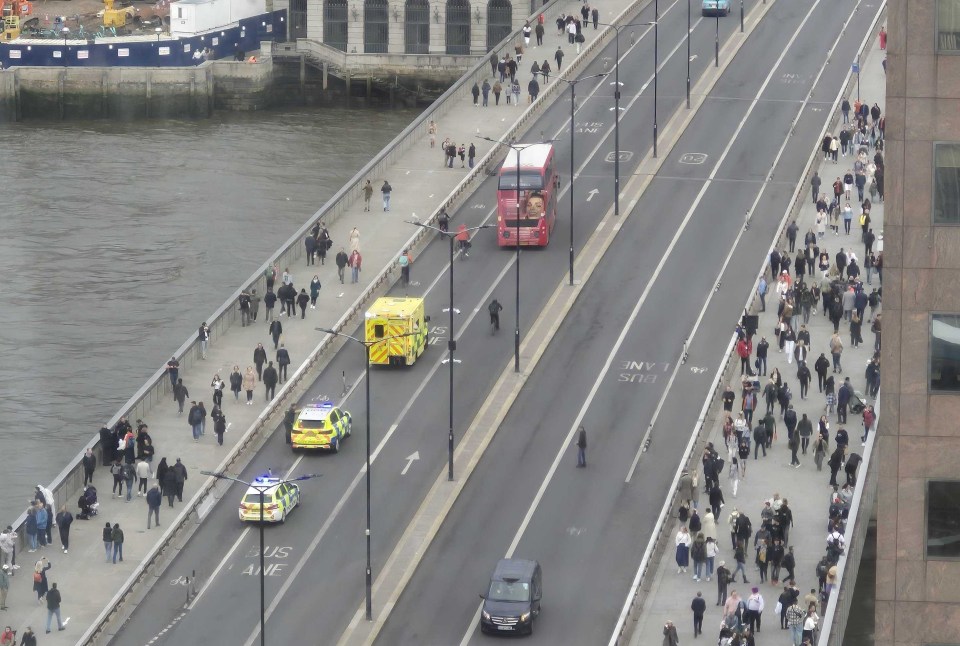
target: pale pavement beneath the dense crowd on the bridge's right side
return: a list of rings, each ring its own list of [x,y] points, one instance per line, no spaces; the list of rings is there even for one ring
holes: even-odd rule
[[[873,105],[873,103],[876,102],[880,105],[881,109],[885,107],[884,97],[886,95],[886,79],[881,65],[884,57],[885,52],[880,51],[878,47],[874,47],[864,60],[860,75],[861,100],[869,105]],[[855,91],[849,99],[850,103],[853,104],[856,99]],[[811,146],[815,144],[819,150],[818,142],[810,142]],[[873,154],[874,151],[871,150],[869,153],[871,160]],[[827,199],[829,201],[833,195],[832,184],[834,178],[836,178],[837,175],[842,176],[848,168],[852,168],[853,158],[850,155],[846,158],[840,157],[839,161],[834,164],[829,161],[823,162],[821,156],[818,158],[818,162],[818,172],[823,178],[821,192],[828,193]],[[815,228],[816,208],[812,204],[809,186],[802,187],[801,194],[804,198],[805,206],[797,218],[797,224],[800,227],[797,246],[802,248],[803,235],[809,229]],[[856,188],[853,190],[852,197],[854,199],[850,202],[856,205]],[[873,202],[873,208],[870,212],[872,227],[874,233],[876,233],[879,238],[880,232],[883,229],[883,203],[877,200],[871,201]],[[862,269],[864,245],[860,242],[860,227],[857,222],[858,214],[859,212],[855,209],[854,221],[849,236],[843,232],[843,222],[841,219],[840,235],[835,236],[828,228],[826,236],[818,244],[821,250],[824,248],[827,249],[831,259],[841,247],[845,250],[852,249],[854,253],[856,253],[858,264],[860,264]],[[882,245],[875,243],[874,253],[876,253],[878,246],[882,248]],[[781,249],[781,251],[787,248],[786,239],[783,238],[778,241],[777,247]],[[822,276],[819,271],[817,271],[816,275],[817,279]],[[768,278],[770,276],[769,265],[767,266],[766,276]],[[791,276],[793,276],[792,270]],[[861,279],[864,280],[867,293],[869,293],[872,288],[879,287],[880,281],[876,274],[873,275],[872,285],[866,284],[865,277],[866,271],[864,270],[861,274]],[[870,310],[868,308],[867,314],[864,317],[865,319],[869,318],[869,312]],[[794,321],[802,322],[802,316],[799,314],[796,315]],[[797,411],[798,419],[806,413],[807,417],[813,422],[814,433],[816,434],[817,420],[819,420],[820,416],[824,413],[825,398],[823,394],[817,390],[817,376],[814,372],[807,399],[800,399],[800,384],[797,380],[796,361],[787,363],[786,354],[777,351],[777,338],[773,334],[776,322],[777,299],[771,286],[771,293],[767,296],[767,310],[765,313],[760,314],[760,329],[757,332],[757,336],[754,337],[754,348],[756,348],[757,343],[759,343],[761,336],[767,338],[767,341],[770,343],[767,374],[769,375],[770,371],[774,368],[780,371],[784,382],[790,385],[790,390],[793,392],[792,404]],[[799,329],[799,327],[797,327],[797,329]],[[811,371],[813,371],[813,363],[820,356],[821,352],[825,353],[828,359],[830,358],[829,341],[833,334],[833,325],[827,317],[823,316],[822,309],[817,307],[816,314],[810,316],[807,329],[810,331],[811,340],[808,365]],[[864,320],[862,332],[864,343],[859,348],[853,348],[850,344],[849,323],[845,321],[841,321],[840,323],[840,336],[844,344],[842,355],[844,371],[842,375],[834,375],[836,386],[839,389],[843,383],[843,378],[849,377],[855,390],[866,393],[864,370],[873,356],[874,343],[874,335],[870,332],[870,324]],[[828,374],[832,374],[832,372]],[[765,386],[768,379],[764,377],[759,377],[759,379],[761,387]],[[736,411],[741,401],[739,397],[740,386],[738,383],[738,372],[735,373],[735,378],[731,381],[734,382],[732,387],[737,393],[737,402],[734,407],[734,411]],[[765,411],[763,398],[760,397],[759,399],[758,415],[755,416],[754,421],[756,421],[758,416],[761,416],[759,415],[760,413]],[[872,404],[873,401],[870,400],[870,403]],[[716,559],[716,563],[725,561],[726,567],[731,572],[736,567],[730,544],[730,525],[728,523],[730,513],[734,509],[739,509],[746,513],[753,523],[754,531],[756,531],[760,528],[760,511],[763,509],[764,502],[772,498],[775,493],[779,493],[782,498],[789,500],[790,508],[793,510],[794,526],[789,534],[789,545],[794,548],[797,561],[795,568],[796,583],[801,591],[802,597],[802,595],[809,593],[811,588],[817,588],[816,565],[826,550],[827,509],[830,505],[830,495],[832,492],[832,488],[829,486],[830,471],[826,466],[826,460],[824,460],[823,471],[817,471],[813,461],[812,451],[809,451],[807,455],[799,456],[801,463],[799,468],[790,467],[790,450],[787,448],[787,433],[783,421],[780,419],[779,410],[780,407],[778,404],[775,408],[777,416],[777,440],[774,442],[773,448],[768,451],[767,457],[764,458],[761,452],[759,460],[751,458],[748,461],[746,477],[740,481],[737,496],[733,496],[731,493],[730,483],[727,478],[730,461],[729,458],[724,456],[727,466],[724,468],[723,475],[720,478],[720,487],[723,490],[726,504],[720,512],[720,517],[717,519],[718,545],[721,551]],[[830,416],[831,448],[835,447],[834,438],[840,426],[845,427],[849,433],[849,451],[862,455],[860,437],[863,434],[863,424],[860,416],[849,413],[847,423],[844,425],[837,424],[836,414]],[[708,441],[712,441],[714,446],[720,447],[721,455],[723,455],[722,424],[718,424],[713,429]],[[751,438],[751,451],[752,449],[753,440]],[[838,482],[843,484],[844,473],[842,470],[837,478]],[[700,494],[699,504],[702,517],[705,513],[704,510],[709,508],[708,497],[702,492]],[[698,591],[703,593],[703,598],[707,602],[707,613],[703,622],[704,643],[713,643],[713,640],[716,639],[720,631],[722,608],[715,605],[717,602],[716,577],[710,582],[703,579],[701,579],[700,582],[694,581],[692,578],[692,560],[685,574],[677,573],[673,537],[676,536],[680,523],[676,520],[675,511],[673,514],[673,527],[671,531],[668,532],[670,544],[664,551],[663,557],[655,570],[654,581],[650,585],[649,592],[646,593],[644,607],[637,615],[637,625],[630,640],[632,646],[660,644],[663,640],[663,626],[668,620],[676,624],[680,643],[691,643],[690,640],[693,639],[693,613],[690,609],[690,604]],[[753,541],[751,541],[750,549],[747,552],[747,578],[750,583],[744,584],[742,577],[738,576],[737,581],[728,586],[728,593],[737,590],[745,600],[746,597],[750,595],[751,588],[754,586],[759,587],[765,601],[766,609],[763,612],[762,618],[763,630],[757,636],[757,643],[764,644],[764,646],[768,644],[789,644],[791,643],[789,632],[780,630],[780,618],[774,613],[777,598],[783,591],[783,586],[786,584],[786,581],[781,579],[779,585],[772,585],[769,581],[761,584],[758,569],[756,565],[754,565],[753,554]],[[782,572],[782,577],[785,576],[786,572]],[[771,634],[773,635],[772,638],[770,637]]]

